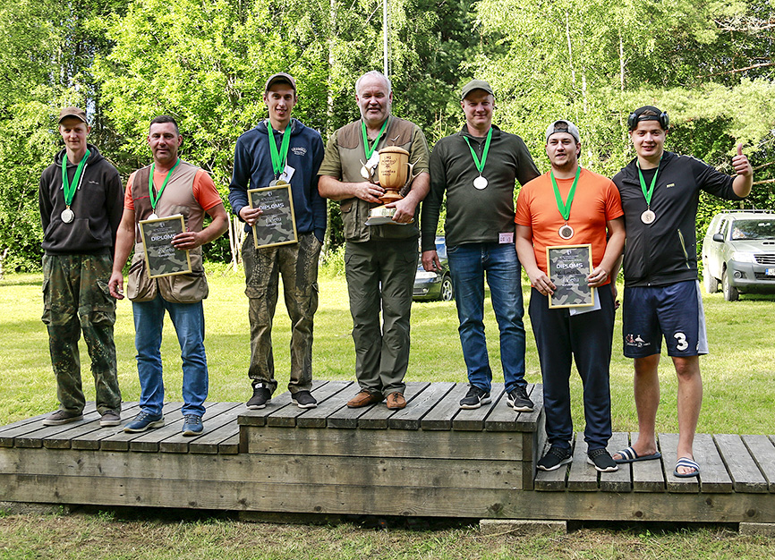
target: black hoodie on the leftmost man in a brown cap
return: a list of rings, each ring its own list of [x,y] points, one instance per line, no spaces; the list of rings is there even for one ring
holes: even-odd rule
[[[83,171],[81,186],[72,197],[75,219],[62,221],[64,190],[62,188],[63,149],[56,154],[40,177],[38,199],[43,224],[43,250],[47,254],[112,253],[115,232],[123,212],[121,177],[99,150],[87,144],[91,152]],[[67,162],[67,180],[72,181],[78,165]]]

